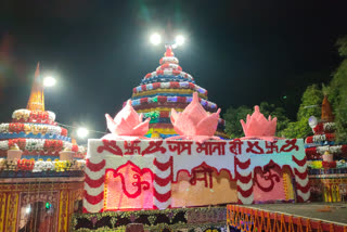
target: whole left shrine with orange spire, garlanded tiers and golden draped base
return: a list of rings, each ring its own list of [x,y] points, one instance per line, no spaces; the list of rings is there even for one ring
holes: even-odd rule
[[[68,231],[81,211],[85,155],[44,109],[38,65],[27,108],[0,125],[0,231]]]

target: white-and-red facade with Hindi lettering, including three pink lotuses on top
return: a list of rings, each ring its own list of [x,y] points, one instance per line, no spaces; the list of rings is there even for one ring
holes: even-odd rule
[[[274,138],[277,119],[255,108],[247,138],[229,141],[214,136],[220,111],[207,113],[197,93],[183,112],[172,108],[179,136],[166,140],[144,138],[149,119],[130,101],[114,119],[106,114],[112,133],[88,140],[83,211],[307,201],[304,141]]]

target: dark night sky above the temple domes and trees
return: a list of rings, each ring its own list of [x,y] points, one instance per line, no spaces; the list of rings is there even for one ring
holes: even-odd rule
[[[26,107],[41,62],[59,81],[46,91],[47,109],[59,123],[99,131],[106,129],[104,114],[118,112],[158,66],[165,50],[150,46],[153,31],[188,37],[175,54],[223,111],[269,101],[291,117],[308,85],[331,79],[340,62],[335,41],[347,35],[346,0],[0,4],[0,121]]]

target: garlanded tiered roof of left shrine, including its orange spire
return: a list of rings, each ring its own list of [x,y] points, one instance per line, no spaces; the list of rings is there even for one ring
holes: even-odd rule
[[[14,111],[12,123],[0,125],[0,157],[22,153],[26,159],[55,159],[62,151],[72,152],[74,157],[81,158],[83,147],[72,143],[67,130],[55,123],[53,112],[44,111],[38,64],[27,107]]]

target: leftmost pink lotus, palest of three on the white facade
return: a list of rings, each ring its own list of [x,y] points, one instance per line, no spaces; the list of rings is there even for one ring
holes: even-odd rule
[[[129,100],[126,106],[116,115],[114,119],[106,114],[107,128],[112,133],[104,136],[102,139],[144,139],[149,131],[151,118],[142,121],[142,114],[138,114]]]

